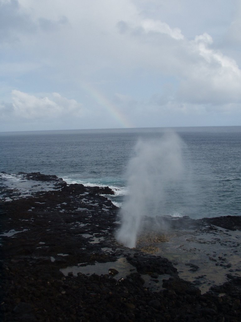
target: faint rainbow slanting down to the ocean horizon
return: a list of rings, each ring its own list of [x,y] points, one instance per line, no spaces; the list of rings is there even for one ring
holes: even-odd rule
[[[91,95],[91,97],[103,108],[105,108],[110,114],[120,123],[121,127],[133,128],[134,126],[129,122],[124,114],[113,104],[107,97],[103,95],[99,90],[95,89],[89,83],[82,83],[83,89]]]

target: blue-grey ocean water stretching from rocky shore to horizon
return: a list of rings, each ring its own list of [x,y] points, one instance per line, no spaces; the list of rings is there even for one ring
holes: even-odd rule
[[[2,132],[0,171],[39,171],[68,183],[108,185],[116,193],[110,198],[121,206],[138,140],[158,142],[169,131],[184,142],[186,188],[166,194],[160,215],[241,215],[241,127]]]

